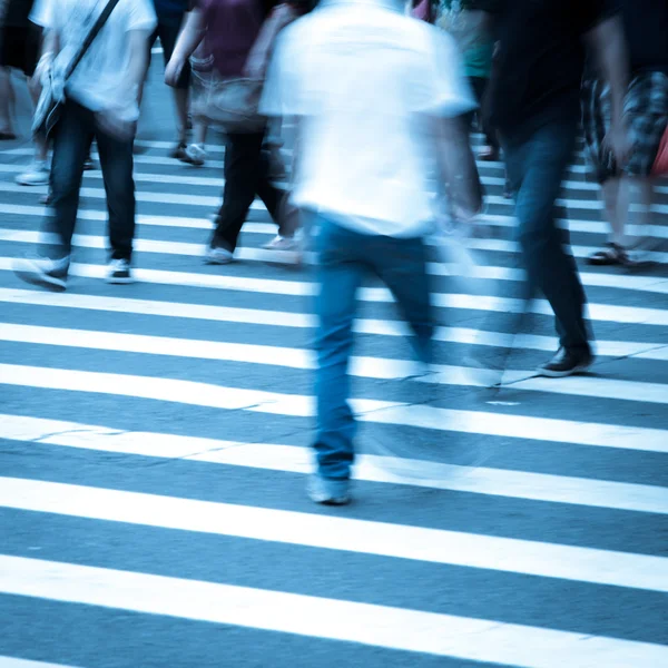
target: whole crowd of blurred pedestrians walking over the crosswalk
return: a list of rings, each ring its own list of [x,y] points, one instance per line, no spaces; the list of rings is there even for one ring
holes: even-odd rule
[[[296,250],[299,227],[318,232],[318,468],[310,491],[318,502],[344,503],[354,458],[347,364],[356,289],[366,273],[387,284],[412,327],[416,356],[429,365],[434,315],[425,237],[439,219],[431,184],[435,175],[456,220],[472,224],[481,213],[468,137],[474,124],[485,138],[479,157],[505,164],[524,296],[541,292],[554,312],[560,350],[540,372],[559,377],[591,365],[584,291],[556,200],[581,127],[611,226],[610,243],[589,262],[642,264],[627,229],[629,193],[640,194],[647,224],[655,180],[666,169],[668,2],[314,4],[0,0],[0,139],[13,137],[7,71],[14,68],[30,79],[35,99],[41,95],[36,119],[40,106],[58,114],[49,131],[36,122],[32,173],[40,177],[23,181],[48,180],[47,225],[59,244],[19,261],[19,276],[65,289],[95,140],[109,214],[108,278],[130,282],[134,138],[159,38],[176,109],[173,157],[203,165],[207,128],[226,134],[223,203],[206,262],[233,261],[255,197],[277,224],[269,248]],[[273,174],[288,126],[294,164],[284,189]],[[298,225],[291,212],[298,212]]]

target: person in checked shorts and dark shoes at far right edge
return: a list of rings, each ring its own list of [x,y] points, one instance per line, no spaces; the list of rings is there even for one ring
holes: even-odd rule
[[[668,126],[668,2],[620,0],[629,49],[631,81],[625,104],[629,155],[619,164],[605,141],[610,131],[610,86],[595,63],[582,84],[582,125],[587,155],[593,166],[605,212],[610,224],[606,246],[593,253],[590,265],[620,265],[629,269],[646,265],[649,239],[628,234],[630,203],[639,195],[639,226],[652,222],[656,176],[652,167]]]

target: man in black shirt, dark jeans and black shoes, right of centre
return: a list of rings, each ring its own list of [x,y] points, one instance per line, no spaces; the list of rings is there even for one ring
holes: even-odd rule
[[[492,124],[499,129],[515,196],[527,294],[540,289],[557,317],[560,350],[539,373],[560,377],[593,362],[584,291],[554,219],[580,119],[584,43],[610,82],[607,141],[623,160],[627,60],[621,21],[607,0],[501,0],[499,47],[491,82]]]

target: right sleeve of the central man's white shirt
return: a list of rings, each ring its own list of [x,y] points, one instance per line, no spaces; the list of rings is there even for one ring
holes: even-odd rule
[[[450,118],[472,111],[478,105],[454,40],[443,31],[425,28],[432,35],[433,49],[411,78],[412,110]]]

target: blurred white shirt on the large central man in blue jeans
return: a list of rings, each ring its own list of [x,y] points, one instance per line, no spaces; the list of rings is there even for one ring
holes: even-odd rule
[[[366,234],[433,219],[425,117],[475,108],[452,39],[382,0],[334,0],[282,33],[262,108],[299,118],[296,206]]]

